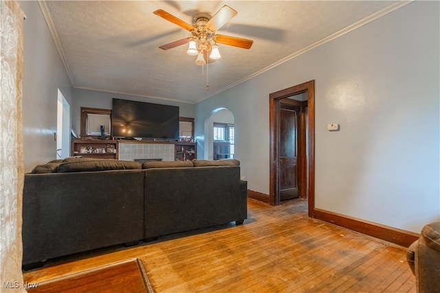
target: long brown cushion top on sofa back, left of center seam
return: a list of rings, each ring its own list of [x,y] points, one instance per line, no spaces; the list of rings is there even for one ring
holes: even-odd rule
[[[58,173],[142,169],[142,164],[114,159],[69,158],[58,166]]]

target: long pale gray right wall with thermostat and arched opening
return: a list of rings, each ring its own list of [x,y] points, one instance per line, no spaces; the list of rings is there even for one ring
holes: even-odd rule
[[[316,80],[316,208],[419,233],[440,220],[439,25],[415,1],[199,102],[198,155],[206,117],[232,110],[241,175],[269,194],[269,94]]]

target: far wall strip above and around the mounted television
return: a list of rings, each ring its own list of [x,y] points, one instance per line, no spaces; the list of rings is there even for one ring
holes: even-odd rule
[[[87,108],[100,108],[111,109],[111,99],[113,97],[117,99],[131,99],[132,101],[164,104],[171,106],[179,106],[179,115],[181,117],[194,117],[194,104],[179,103],[173,101],[167,101],[164,99],[153,99],[148,97],[138,97],[133,95],[122,95],[118,93],[106,93],[102,91],[89,91],[85,89],[72,89],[72,128],[76,133],[80,133],[80,109],[81,107]]]

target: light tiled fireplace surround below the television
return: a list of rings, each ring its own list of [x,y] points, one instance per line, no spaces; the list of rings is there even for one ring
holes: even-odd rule
[[[175,160],[175,145],[173,143],[119,143],[119,159],[134,161],[135,159]]]

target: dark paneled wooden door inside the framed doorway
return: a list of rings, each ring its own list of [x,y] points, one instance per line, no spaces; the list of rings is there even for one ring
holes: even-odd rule
[[[278,149],[278,186],[280,200],[300,196],[298,164],[298,128],[300,106],[281,102]]]

